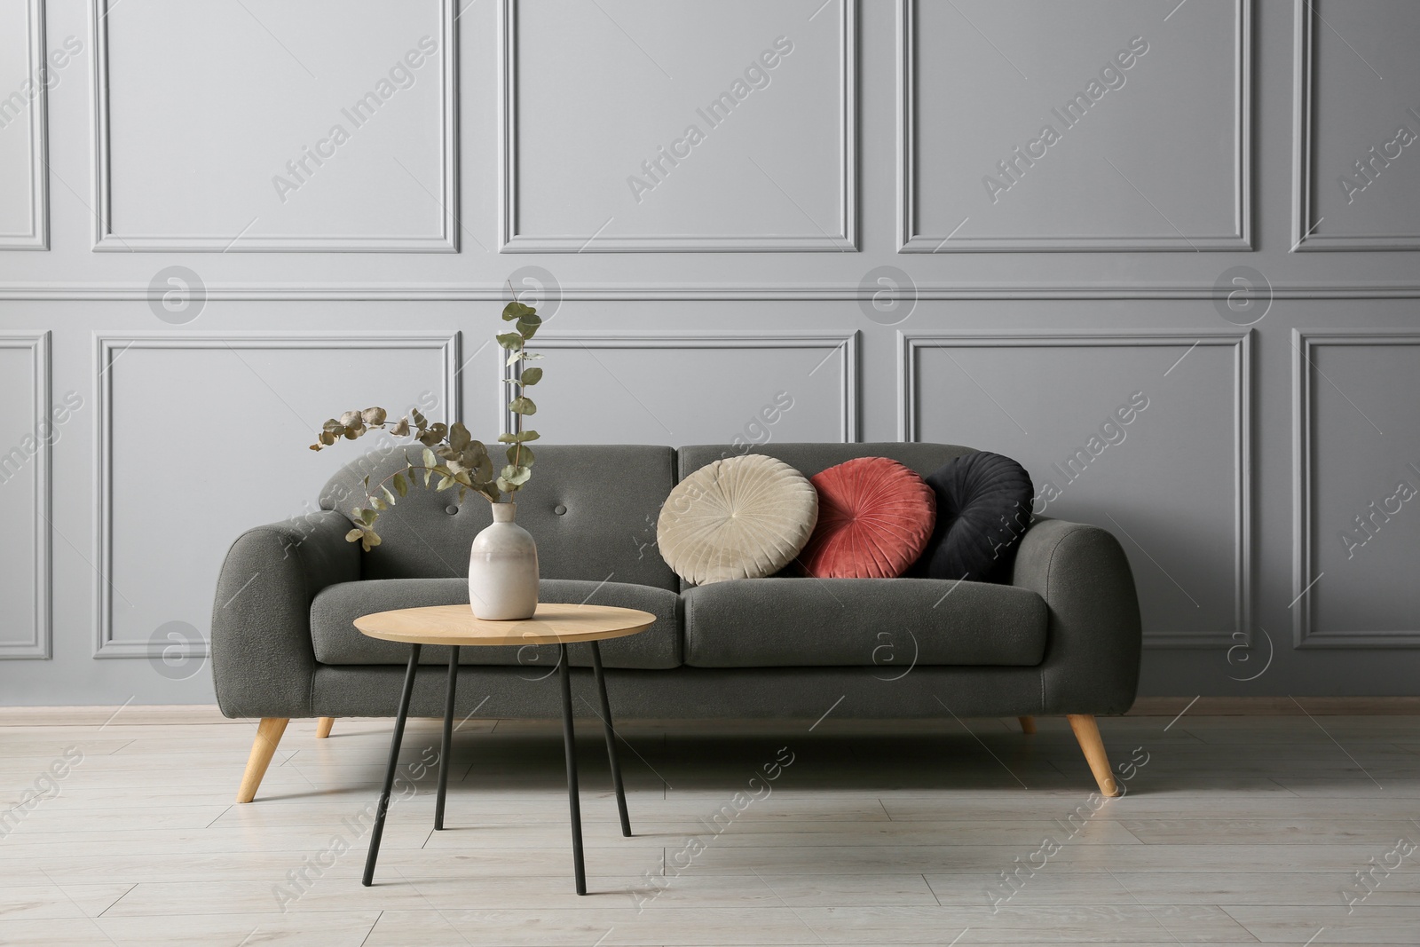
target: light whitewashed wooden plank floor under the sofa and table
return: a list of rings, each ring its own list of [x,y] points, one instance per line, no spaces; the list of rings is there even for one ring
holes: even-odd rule
[[[1100,720],[1130,778],[1093,814],[1061,718],[1032,737],[1014,720],[642,723],[622,752],[632,839],[584,724],[586,897],[555,724],[467,721],[447,831],[432,831],[429,770],[392,806],[365,889],[355,819],[388,721],[337,721],[322,741],[293,721],[257,801],[233,805],[254,723],[192,718],[0,726],[0,943],[1420,944],[1420,849],[1392,853],[1420,843],[1417,717]],[[412,721],[406,765],[437,740]],[[41,774],[68,747],[82,760],[50,788]],[[737,792],[743,811],[717,831]],[[1007,899],[1001,873],[1022,865],[1034,875]],[[1348,889],[1370,890],[1349,913]]]

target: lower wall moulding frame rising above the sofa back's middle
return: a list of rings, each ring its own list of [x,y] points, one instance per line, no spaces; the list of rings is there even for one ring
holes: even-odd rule
[[[710,335],[710,334],[579,334],[579,335],[542,335],[532,341],[531,348],[540,349],[822,349],[826,352],[826,362],[838,354],[838,392],[839,392],[839,439],[845,444],[858,442],[858,339],[856,331],[845,335],[821,334],[792,334],[780,332],[771,335]],[[511,417],[507,412],[506,385],[498,379],[498,412],[503,419],[503,432],[511,430]]]

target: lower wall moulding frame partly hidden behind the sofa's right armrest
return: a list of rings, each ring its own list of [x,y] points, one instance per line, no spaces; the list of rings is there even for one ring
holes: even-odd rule
[[[897,439],[917,440],[917,352],[929,348],[1020,348],[1020,346],[1221,346],[1233,349],[1233,544],[1234,586],[1231,632],[1145,632],[1149,647],[1228,647],[1251,642],[1252,626],[1252,379],[1251,331],[1211,332],[1012,332],[912,335],[897,334]]]

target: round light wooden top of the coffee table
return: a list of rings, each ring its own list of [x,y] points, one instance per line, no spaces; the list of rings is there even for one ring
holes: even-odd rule
[[[362,615],[355,628],[409,645],[571,645],[635,635],[655,620],[650,612],[633,608],[538,602],[532,618],[511,622],[476,618],[467,605],[430,605]]]

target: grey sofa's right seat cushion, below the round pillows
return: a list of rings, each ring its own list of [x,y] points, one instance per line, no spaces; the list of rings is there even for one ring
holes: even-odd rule
[[[939,579],[768,578],[684,592],[693,667],[1034,666],[1045,601],[1028,589]]]

